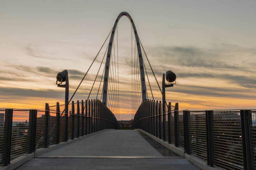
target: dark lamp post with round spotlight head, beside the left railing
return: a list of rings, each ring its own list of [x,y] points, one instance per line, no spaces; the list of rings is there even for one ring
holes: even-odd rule
[[[65,118],[66,118],[65,140],[68,141],[68,103],[69,103],[68,102],[68,91],[69,91],[68,71],[63,70],[62,72],[59,72],[57,74],[56,79],[57,79],[56,84],[58,87],[65,87]],[[62,82],[66,82],[66,84],[62,84]]]

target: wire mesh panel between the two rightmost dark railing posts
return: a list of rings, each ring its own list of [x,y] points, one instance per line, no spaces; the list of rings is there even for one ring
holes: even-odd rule
[[[240,112],[213,112],[214,164],[223,169],[243,169]]]

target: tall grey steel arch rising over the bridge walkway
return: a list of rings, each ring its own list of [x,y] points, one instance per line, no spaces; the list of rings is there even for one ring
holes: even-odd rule
[[[107,103],[108,77],[109,77],[109,68],[110,68],[109,63],[110,63],[110,56],[111,56],[111,51],[112,51],[113,38],[114,38],[114,35],[115,35],[115,30],[116,30],[116,26],[118,24],[118,21],[122,16],[126,16],[127,18],[129,18],[129,20],[132,24],[133,30],[134,30],[134,36],[135,36],[135,39],[136,39],[137,50],[138,50],[138,55],[139,55],[139,63],[140,63],[142,100],[147,99],[145,74],[144,74],[143,59],[142,59],[139,37],[138,37],[136,27],[134,25],[134,22],[133,22],[131,16],[127,12],[121,12],[115,20],[115,23],[114,23],[114,26],[113,26],[113,29],[112,29],[112,32],[111,32],[110,40],[109,40],[108,53],[107,53],[107,59],[106,59],[106,64],[105,64],[105,73],[104,73],[103,95],[102,95],[102,103],[104,103],[104,104]]]

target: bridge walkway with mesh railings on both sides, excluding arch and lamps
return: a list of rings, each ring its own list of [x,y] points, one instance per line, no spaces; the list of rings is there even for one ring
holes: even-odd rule
[[[161,108],[144,100],[133,130],[119,130],[98,100],[72,102],[63,115],[58,103],[45,110],[2,108],[0,169],[254,169],[255,110]]]

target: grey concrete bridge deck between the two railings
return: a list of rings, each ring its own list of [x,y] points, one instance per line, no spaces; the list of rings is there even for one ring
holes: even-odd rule
[[[171,151],[164,156],[163,149],[150,143],[136,130],[103,130],[17,169],[199,169]]]

